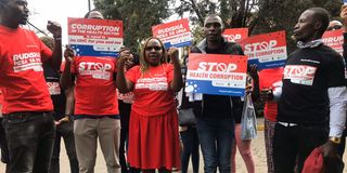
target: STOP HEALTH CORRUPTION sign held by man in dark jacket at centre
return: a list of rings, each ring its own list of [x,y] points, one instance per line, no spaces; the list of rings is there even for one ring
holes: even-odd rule
[[[247,56],[189,54],[185,92],[245,95]]]

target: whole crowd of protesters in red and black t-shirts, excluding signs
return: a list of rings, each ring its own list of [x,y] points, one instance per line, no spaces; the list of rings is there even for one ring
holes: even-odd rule
[[[28,15],[25,0],[0,0],[0,147],[7,173],[60,172],[61,138],[72,173],[94,172],[98,139],[108,173],[185,173],[190,156],[193,172],[202,172],[200,147],[206,173],[236,172],[236,147],[248,173],[257,172],[252,141],[240,137],[245,98],[187,93],[189,56],[181,63],[177,48],[151,37],[140,55],[126,46],[117,58],[78,56],[69,46],[62,53],[60,24],[48,22],[53,39],[40,40],[21,27]],[[304,11],[294,27],[297,49],[285,66],[248,66],[253,84],[246,93],[265,102],[269,173],[310,173],[316,150],[325,172],[344,170],[347,34],[343,56],[321,40],[325,30],[347,30],[347,8],[340,17],[330,23],[322,8]],[[104,17],[94,10],[85,18]],[[220,16],[208,15],[203,27],[204,39],[190,53],[244,55],[222,37]],[[195,123],[179,125],[178,107],[191,108]]]

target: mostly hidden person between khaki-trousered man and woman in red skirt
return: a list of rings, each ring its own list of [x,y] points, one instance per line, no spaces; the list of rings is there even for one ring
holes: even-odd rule
[[[125,64],[125,70],[129,70],[133,66],[139,65],[139,56],[130,52],[130,56]],[[131,105],[133,103],[133,92],[121,94],[117,91],[118,97],[118,108],[120,115],[120,145],[119,145],[119,162],[121,167],[121,172],[128,172],[127,159],[126,159],[126,150],[128,148],[128,134],[129,134],[129,120],[131,112]]]

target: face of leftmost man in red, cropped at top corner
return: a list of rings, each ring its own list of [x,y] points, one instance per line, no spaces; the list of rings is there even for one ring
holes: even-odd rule
[[[7,0],[3,6],[3,18],[13,25],[25,25],[29,16],[26,0]]]

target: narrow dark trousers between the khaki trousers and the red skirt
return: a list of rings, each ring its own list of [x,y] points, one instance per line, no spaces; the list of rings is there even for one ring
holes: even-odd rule
[[[126,160],[126,150],[127,150],[127,141],[129,134],[129,120],[131,104],[124,103],[118,101],[118,108],[120,115],[120,144],[119,144],[119,162],[121,167],[121,173],[128,173],[128,165]]]

